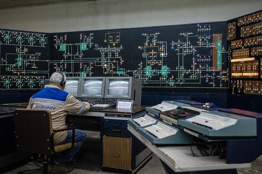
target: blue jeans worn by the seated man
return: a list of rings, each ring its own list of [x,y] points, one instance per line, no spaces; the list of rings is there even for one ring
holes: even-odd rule
[[[75,142],[77,144],[76,147],[70,148],[68,150],[61,152],[61,156],[57,157],[55,162],[63,163],[63,162],[71,161],[75,157],[75,154],[77,153],[79,148],[82,146],[85,139],[86,139],[86,133],[84,131],[75,129]],[[67,131],[67,135],[65,139],[62,142],[60,142],[58,145],[66,144],[70,142],[72,142],[72,130]]]

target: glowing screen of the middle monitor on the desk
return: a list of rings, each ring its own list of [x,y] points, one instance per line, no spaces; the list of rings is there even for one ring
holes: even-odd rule
[[[84,95],[102,95],[102,80],[85,80]]]

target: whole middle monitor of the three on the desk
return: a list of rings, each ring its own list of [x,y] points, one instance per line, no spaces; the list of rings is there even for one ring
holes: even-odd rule
[[[82,77],[80,85],[80,101],[88,103],[104,103],[105,77]]]

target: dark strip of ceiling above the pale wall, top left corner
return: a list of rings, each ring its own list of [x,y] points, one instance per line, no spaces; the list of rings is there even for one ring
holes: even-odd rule
[[[37,6],[43,4],[52,3],[68,3],[79,0],[0,0],[0,9],[15,8],[15,7],[26,7],[26,6]],[[82,1],[96,1],[96,0],[82,0]]]

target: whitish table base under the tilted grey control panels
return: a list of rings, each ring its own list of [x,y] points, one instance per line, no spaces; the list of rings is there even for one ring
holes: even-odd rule
[[[250,167],[251,163],[226,164],[225,159],[218,156],[193,157],[190,146],[155,146],[148,139],[128,125],[128,130],[143,142],[174,172],[223,170]]]

